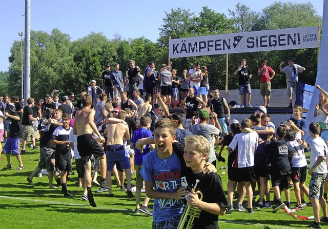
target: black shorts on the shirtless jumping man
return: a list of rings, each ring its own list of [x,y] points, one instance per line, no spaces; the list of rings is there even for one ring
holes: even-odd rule
[[[91,133],[77,136],[77,150],[84,163],[87,163],[93,155],[95,159],[103,157],[105,152],[103,148],[92,138]]]

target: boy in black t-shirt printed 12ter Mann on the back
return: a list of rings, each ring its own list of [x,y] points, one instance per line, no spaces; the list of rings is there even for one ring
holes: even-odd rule
[[[283,138],[286,136],[286,129],[282,126],[277,128],[277,140],[272,139],[272,135],[267,137],[265,141],[264,150],[268,154],[269,162],[271,162],[271,183],[273,187],[276,200],[274,202],[275,207],[273,208],[273,213],[276,213],[278,209],[283,207],[285,204],[280,198],[280,188],[283,188],[283,192],[286,197],[286,204],[290,208],[290,192],[288,186],[289,176],[292,173],[291,165],[288,159],[289,148]]]

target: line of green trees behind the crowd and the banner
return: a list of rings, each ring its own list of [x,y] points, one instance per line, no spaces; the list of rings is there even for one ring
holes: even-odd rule
[[[248,32],[258,30],[283,29],[305,26],[318,26],[321,16],[309,3],[275,2],[259,12],[242,3],[229,9],[229,16],[215,12],[203,6],[198,15],[186,9],[171,9],[165,12],[163,25],[159,30],[157,42],[147,37],[122,39],[120,34],[113,34],[108,39],[102,33],[90,33],[76,41],[70,35],[53,29],[51,33],[31,31],[31,97],[43,98],[53,89],[67,94],[70,91],[78,94],[86,90],[90,81],[95,79],[100,84],[101,72],[106,63],[112,66],[119,63],[125,73],[129,60],[135,60],[141,72],[150,61],[159,69],[162,63],[168,62],[169,36],[172,39],[201,35]],[[321,26],[320,26],[321,28]],[[320,32],[321,34],[321,32]],[[23,47],[24,48],[24,47]],[[20,94],[20,41],[14,41],[10,49],[9,75],[6,83],[0,83],[0,93]],[[237,89],[238,80],[233,72],[240,65],[241,59],[247,60],[253,78],[252,88],[259,88],[257,69],[261,60],[267,60],[268,66],[276,71],[272,88],[284,88],[285,76],[279,72],[279,63],[290,56],[296,64],[306,68],[300,75],[300,81],[314,85],[317,74],[317,49],[297,49],[283,51],[236,53],[228,55],[228,88]],[[226,55],[193,56],[171,59],[173,68],[181,76],[183,69],[190,69],[197,61],[209,69],[211,88],[224,89],[226,82]],[[2,79],[0,79],[2,81]],[[3,85],[6,86],[3,86]]]

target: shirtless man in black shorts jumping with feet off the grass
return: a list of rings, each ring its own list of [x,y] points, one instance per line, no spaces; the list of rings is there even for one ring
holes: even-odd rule
[[[100,187],[108,190],[109,186],[106,183],[106,155],[101,146],[95,139],[92,138],[92,131],[99,137],[100,142],[105,143],[105,139],[101,137],[96,124],[94,123],[95,110],[91,108],[92,98],[89,94],[81,96],[83,108],[76,111],[75,121],[73,125],[73,134],[77,135],[77,149],[80,156],[83,158],[85,167],[85,182],[88,190],[88,200],[91,206],[96,207],[91,190],[91,163],[99,157],[101,184]]]

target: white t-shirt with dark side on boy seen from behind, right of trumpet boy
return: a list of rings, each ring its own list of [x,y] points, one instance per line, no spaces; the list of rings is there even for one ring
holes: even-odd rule
[[[258,134],[256,132],[237,133],[229,145],[233,150],[236,148],[238,150],[232,166],[234,168],[254,166],[254,154],[257,144]]]

